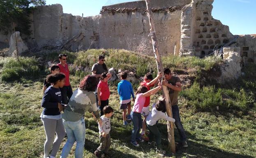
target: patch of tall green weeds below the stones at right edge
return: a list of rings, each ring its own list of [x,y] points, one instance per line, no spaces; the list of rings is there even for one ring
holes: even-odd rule
[[[197,82],[189,89],[183,90],[181,96],[188,99],[187,104],[197,110],[212,111],[216,107],[222,110],[249,110],[254,106],[254,97],[252,93],[246,93],[244,89],[215,89],[214,86],[200,88]]]

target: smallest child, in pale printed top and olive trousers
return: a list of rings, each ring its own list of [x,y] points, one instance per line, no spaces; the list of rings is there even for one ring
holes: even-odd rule
[[[104,155],[108,156],[108,150],[111,146],[111,140],[110,140],[110,117],[113,114],[113,109],[111,106],[105,106],[103,108],[103,113],[101,118],[101,126],[99,125],[99,138],[100,138],[100,145],[97,148],[97,150],[94,152],[95,156],[97,158],[102,158]]]

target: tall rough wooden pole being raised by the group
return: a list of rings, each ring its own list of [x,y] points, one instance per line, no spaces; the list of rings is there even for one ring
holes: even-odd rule
[[[161,55],[159,54],[159,48],[157,44],[157,35],[155,32],[155,24],[152,19],[152,10],[151,10],[151,3],[150,0],[145,0],[146,5],[147,5],[147,12],[148,12],[148,18],[149,18],[149,25],[150,25],[150,35],[152,39],[152,44],[153,44],[153,50],[154,50],[154,55],[156,58],[157,62],[157,71],[163,73],[164,75],[164,70],[163,70],[163,64],[161,61]],[[173,117],[172,109],[171,109],[171,101],[169,98],[169,93],[168,89],[166,86],[162,85],[162,92],[165,97],[165,103],[166,103],[166,113],[169,117]],[[167,131],[168,131],[168,141],[169,141],[169,149],[171,149],[172,153],[175,153],[175,140],[174,140],[174,129],[173,129],[173,122],[167,121]]]

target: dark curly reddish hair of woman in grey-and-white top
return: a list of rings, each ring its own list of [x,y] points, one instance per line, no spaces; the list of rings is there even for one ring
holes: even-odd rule
[[[94,92],[97,87],[96,77],[93,75],[87,75],[81,80],[79,89]]]

